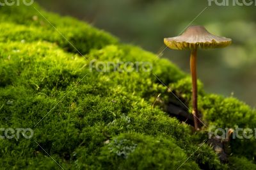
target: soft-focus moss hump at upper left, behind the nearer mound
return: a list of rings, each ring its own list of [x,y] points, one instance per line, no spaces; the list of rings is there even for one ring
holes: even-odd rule
[[[78,50],[83,55],[92,49],[100,49],[118,42],[104,31],[70,17],[44,12],[36,4],[4,6],[0,10],[0,15],[0,21],[4,22],[0,28],[1,42],[47,41],[57,43],[69,52]]]

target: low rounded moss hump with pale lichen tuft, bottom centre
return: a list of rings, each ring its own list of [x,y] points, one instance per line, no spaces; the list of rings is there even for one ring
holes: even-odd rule
[[[172,139],[132,133],[113,138],[104,146],[99,159],[108,169],[177,169],[180,161],[186,160],[186,153]],[[182,169],[199,168],[189,160]]]

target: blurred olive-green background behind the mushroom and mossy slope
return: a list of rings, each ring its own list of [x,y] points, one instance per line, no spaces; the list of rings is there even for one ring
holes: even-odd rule
[[[230,0],[232,2],[232,0]],[[159,54],[163,38],[177,36],[208,5],[207,0],[37,0],[46,10],[71,15]],[[218,1],[221,2],[221,1]],[[230,3],[231,3],[230,2]],[[256,6],[212,3],[194,22],[214,35],[232,38],[225,49],[198,52],[198,78],[207,93],[256,106]],[[189,51],[166,49],[168,58],[189,73]]]

